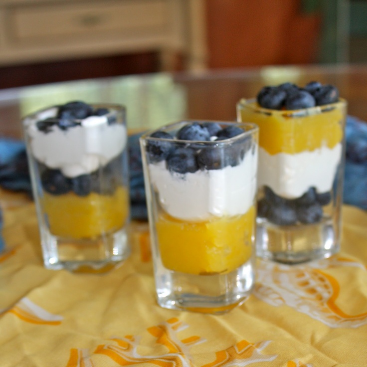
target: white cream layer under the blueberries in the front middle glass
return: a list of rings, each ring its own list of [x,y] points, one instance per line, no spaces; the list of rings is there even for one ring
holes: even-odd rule
[[[257,150],[248,151],[235,167],[171,173],[165,162],[149,165],[151,183],[162,208],[171,216],[188,221],[245,214],[256,194]]]

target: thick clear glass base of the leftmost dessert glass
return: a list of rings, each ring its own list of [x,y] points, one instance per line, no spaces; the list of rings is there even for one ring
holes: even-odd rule
[[[41,233],[43,261],[47,269],[102,273],[130,255],[126,228],[93,239],[68,239]]]

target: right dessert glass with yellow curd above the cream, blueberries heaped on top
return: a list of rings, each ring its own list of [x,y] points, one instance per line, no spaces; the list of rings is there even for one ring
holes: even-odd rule
[[[259,126],[256,252],[300,263],[338,252],[347,103],[332,85],[267,86],[237,104]]]

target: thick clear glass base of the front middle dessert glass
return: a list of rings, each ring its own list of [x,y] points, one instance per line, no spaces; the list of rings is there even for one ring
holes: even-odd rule
[[[156,269],[161,307],[208,314],[224,314],[242,304],[254,286],[253,260],[226,274],[192,275]]]

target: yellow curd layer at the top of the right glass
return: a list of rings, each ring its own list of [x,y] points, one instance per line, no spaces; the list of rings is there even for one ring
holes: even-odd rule
[[[259,126],[259,145],[271,155],[332,149],[343,139],[343,102],[300,111],[268,110],[256,102],[239,108],[241,121]]]

